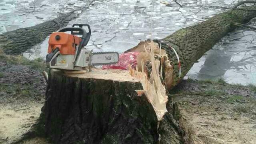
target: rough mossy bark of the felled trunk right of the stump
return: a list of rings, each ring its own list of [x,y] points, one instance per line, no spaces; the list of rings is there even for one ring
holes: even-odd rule
[[[205,52],[210,50],[228,32],[238,27],[234,23],[245,24],[255,17],[256,6],[229,10],[194,26],[182,28],[162,39],[176,50],[181,62],[181,76],[179,78],[178,60],[174,51],[169,46],[162,45],[174,66],[174,79],[170,88],[173,88],[182,80],[193,64]]]

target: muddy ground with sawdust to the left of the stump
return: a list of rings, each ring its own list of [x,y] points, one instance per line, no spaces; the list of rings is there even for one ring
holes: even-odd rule
[[[39,117],[46,82],[23,59],[0,54],[0,143],[19,138]],[[32,64],[32,62],[31,62]]]

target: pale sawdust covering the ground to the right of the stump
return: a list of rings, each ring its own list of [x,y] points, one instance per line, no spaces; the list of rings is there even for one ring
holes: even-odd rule
[[[192,114],[188,109],[182,110],[182,114],[189,121],[190,128],[196,132],[196,144],[255,144],[256,123],[251,118],[232,117],[232,114],[236,115],[233,112],[220,114],[216,111],[211,112],[210,116]],[[192,108],[193,111],[196,109]],[[205,108],[203,112],[210,111],[210,108]]]

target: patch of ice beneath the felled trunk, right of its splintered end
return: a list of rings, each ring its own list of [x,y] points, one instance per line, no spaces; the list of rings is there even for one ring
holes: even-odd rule
[[[187,76],[196,79],[224,78],[228,83],[256,84],[255,32],[236,30],[194,64]]]

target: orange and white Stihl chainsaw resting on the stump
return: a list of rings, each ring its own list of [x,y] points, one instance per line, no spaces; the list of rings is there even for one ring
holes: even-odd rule
[[[88,32],[83,26],[87,26]],[[90,36],[88,24],[73,24],[70,28],[52,33],[46,56],[47,66],[61,70],[90,70],[91,66],[118,62],[118,52],[92,52],[86,49]]]

